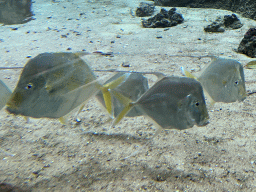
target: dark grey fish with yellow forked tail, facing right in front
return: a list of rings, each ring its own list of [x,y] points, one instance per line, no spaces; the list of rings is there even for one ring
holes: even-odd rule
[[[161,129],[188,129],[205,126],[209,115],[201,83],[187,77],[166,76],[157,81],[137,101],[133,102],[112,90],[125,108],[114,119],[115,126],[133,107],[138,107]]]

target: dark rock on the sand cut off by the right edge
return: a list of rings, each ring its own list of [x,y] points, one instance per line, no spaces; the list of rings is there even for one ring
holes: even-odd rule
[[[252,58],[256,57],[256,28],[250,28],[245,33],[237,51]]]

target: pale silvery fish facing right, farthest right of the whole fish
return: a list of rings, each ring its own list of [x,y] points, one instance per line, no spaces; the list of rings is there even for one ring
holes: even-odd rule
[[[197,79],[211,100],[232,103],[246,98],[244,70],[241,63],[234,59],[211,56],[211,63],[199,77],[184,71],[187,77]]]

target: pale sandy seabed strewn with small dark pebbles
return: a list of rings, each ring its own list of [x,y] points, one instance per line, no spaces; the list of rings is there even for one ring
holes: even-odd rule
[[[83,49],[115,53],[85,56],[93,69],[176,76],[182,75],[181,66],[197,75],[210,59],[170,55],[212,54],[243,65],[252,60],[234,49],[255,21],[238,15],[242,28],[205,33],[204,26],[231,12],[177,8],[185,19],[182,24],[168,30],[145,29],[134,16],[139,2],[36,0],[35,20],[1,26],[0,66],[24,66],[28,57],[42,52]],[[123,63],[130,67],[123,68]],[[20,72],[1,70],[0,75],[14,88]],[[255,72],[244,72],[247,90],[256,90]],[[80,124],[74,111],[66,126],[52,119],[31,118],[27,123],[1,110],[0,182],[24,191],[256,191],[255,103],[255,95],[241,103],[217,103],[209,109],[207,126],[162,131],[125,161],[121,159],[155,133],[157,127],[147,118],[125,118],[111,128],[94,99],[80,114]]]

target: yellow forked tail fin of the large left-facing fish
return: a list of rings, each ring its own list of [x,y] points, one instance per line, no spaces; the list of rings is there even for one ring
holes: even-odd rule
[[[109,90],[116,88],[120,83],[122,83],[125,80],[125,77],[126,77],[126,75],[122,75],[118,79],[105,84],[101,88],[103,98],[104,98],[104,102],[105,102],[105,105],[106,105],[106,109],[107,109],[108,113],[111,114],[111,115],[112,115],[112,100],[111,100],[111,94],[110,94]]]

